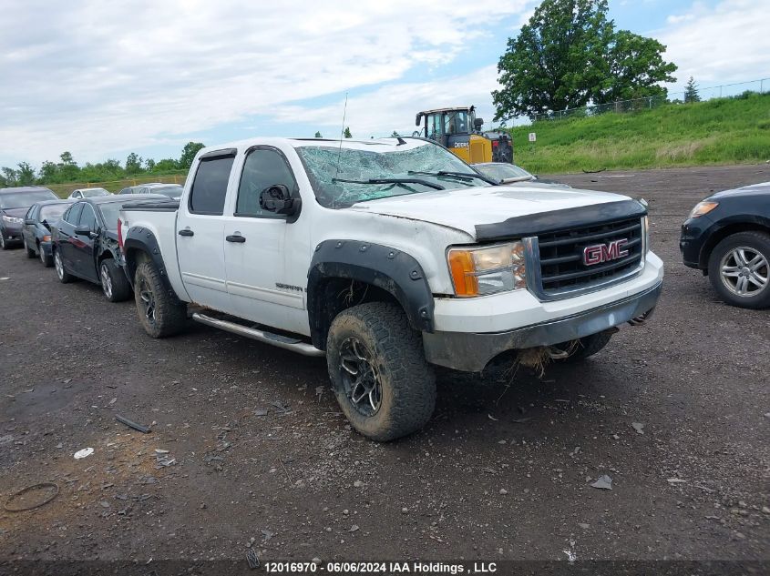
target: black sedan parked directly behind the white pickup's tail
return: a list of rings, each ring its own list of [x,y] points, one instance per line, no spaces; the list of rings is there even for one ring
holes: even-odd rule
[[[100,284],[110,302],[130,298],[118,248],[118,213],[126,200],[94,197],[67,208],[51,234],[56,276],[62,284],[83,278]]]

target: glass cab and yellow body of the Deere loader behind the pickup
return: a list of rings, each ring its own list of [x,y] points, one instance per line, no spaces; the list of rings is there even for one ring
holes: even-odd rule
[[[484,121],[476,117],[474,106],[418,112],[415,124],[420,126],[419,132],[423,136],[435,140],[468,163],[492,159],[488,139],[479,134]]]

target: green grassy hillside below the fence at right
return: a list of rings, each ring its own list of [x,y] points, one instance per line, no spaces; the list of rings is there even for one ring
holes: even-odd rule
[[[540,120],[511,135],[514,162],[536,174],[753,164],[770,160],[770,93]]]

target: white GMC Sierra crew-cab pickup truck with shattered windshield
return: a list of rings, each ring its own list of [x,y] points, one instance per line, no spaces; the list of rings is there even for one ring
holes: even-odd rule
[[[497,186],[422,138],[254,138],[207,147],[179,200],[118,224],[145,330],[192,318],[326,356],[344,414],[374,440],[420,429],[433,365],[584,359],[662,286],[640,201]]]

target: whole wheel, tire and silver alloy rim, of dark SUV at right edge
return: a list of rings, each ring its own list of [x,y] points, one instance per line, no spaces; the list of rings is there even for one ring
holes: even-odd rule
[[[727,304],[770,306],[770,235],[738,232],[724,238],[709,257],[709,279]]]

